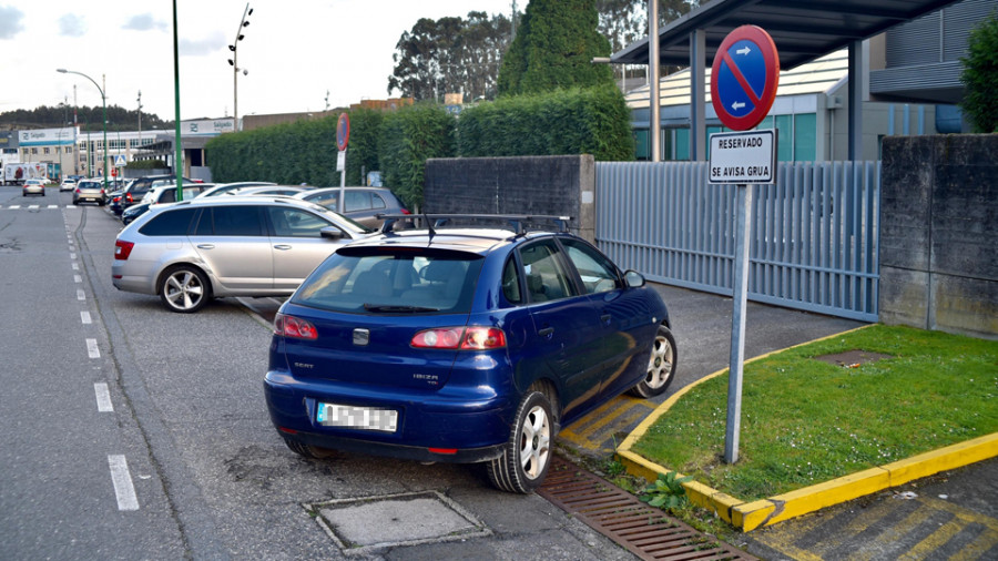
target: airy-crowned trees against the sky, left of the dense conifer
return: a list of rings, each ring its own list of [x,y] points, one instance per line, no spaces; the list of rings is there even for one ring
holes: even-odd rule
[[[420,19],[395,45],[388,93],[398,91],[416,101],[442,101],[444,93],[495,98],[511,28],[506,16],[485,12],[469,12],[467,20]]]

